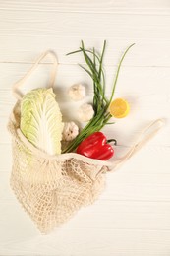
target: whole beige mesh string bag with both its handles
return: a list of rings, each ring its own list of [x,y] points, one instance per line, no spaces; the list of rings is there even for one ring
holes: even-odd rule
[[[13,86],[18,101],[8,123],[13,150],[11,187],[42,233],[50,232],[70,219],[82,206],[93,203],[104,188],[106,172],[114,171],[130,159],[163,124],[161,119],[149,124],[137,143],[119,160],[92,160],[76,153],[51,156],[40,151],[20,130],[20,102],[23,95],[18,89],[46,55],[53,60],[48,88],[53,87],[57,58],[53,52],[46,51]]]

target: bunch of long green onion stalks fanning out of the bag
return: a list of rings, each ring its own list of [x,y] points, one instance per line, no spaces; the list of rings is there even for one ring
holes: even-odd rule
[[[90,76],[93,82],[93,118],[85,125],[80,134],[70,143],[70,145],[62,151],[62,153],[74,152],[78,145],[85,140],[86,137],[94,132],[100,131],[106,124],[109,124],[109,120],[112,115],[109,113],[108,108],[113,99],[115,88],[120,73],[120,68],[125,55],[129,49],[134,45],[131,44],[122,55],[118,68],[116,71],[116,76],[113,83],[112,93],[110,98],[105,96],[105,75],[103,70],[103,57],[106,48],[106,41],[104,41],[101,54],[98,54],[95,49],[92,50],[85,49],[84,42],[82,41],[81,47],[77,51],[68,53],[67,55],[82,52],[85,58],[85,63],[87,68],[80,65],[85,72]]]

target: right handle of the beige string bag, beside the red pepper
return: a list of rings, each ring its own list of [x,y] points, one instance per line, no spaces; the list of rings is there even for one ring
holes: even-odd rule
[[[119,167],[122,165],[126,160],[129,160],[135,153],[137,153],[143,145],[145,145],[165,124],[164,119],[157,119],[153,122],[151,122],[141,133],[139,136],[137,142],[135,143],[134,146],[130,148],[128,153],[120,158],[119,160],[115,160],[113,162],[113,170],[115,168]]]

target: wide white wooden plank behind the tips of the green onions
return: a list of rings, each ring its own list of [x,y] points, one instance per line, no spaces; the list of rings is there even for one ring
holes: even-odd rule
[[[170,16],[153,16],[151,19],[145,16],[143,19],[142,15],[55,15],[55,12],[51,16],[32,12],[30,16],[28,11],[0,11],[0,17],[0,62],[30,62],[40,51],[51,48],[57,52],[60,63],[73,64],[82,58],[66,57],[66,53],[77,49],[81,39],[87,47],[96,48],[101,48],[103,40],[107,39],[108,65],[116,65],[122,51],[135,42],[125,65],[170,66]],[[4,50],[6,48],[8,51]]]

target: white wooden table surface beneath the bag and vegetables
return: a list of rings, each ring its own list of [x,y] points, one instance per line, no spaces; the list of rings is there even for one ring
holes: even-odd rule
[[[125,153],[156,118],[165,128],[119,171],[107,175],[99,200],[70,222],[41,235],[22,210],[9,185],[11,138],[6,125],[15,98],[14,82],[46,49],[59,59],[58,98],[72,84],[92,84],[77,63],[81,54],[66,56],[84,39],[100,49],[107,40],[107,94],[123,50],[115,97],[131,104],[130,115],[105,129],[118,141],[116,158]],[[45,86],[49,62],[39,66],[26,85]],[[65,97],[62,97],[64,100]],[[60,100],[63,113],[76,118],[71,101]],[[72,106],[71,106],[72,105]],[[170,2],[168,0],[0,0],[0,255],[40,256],[169,256],[170,255]]]

